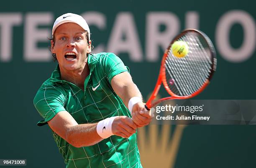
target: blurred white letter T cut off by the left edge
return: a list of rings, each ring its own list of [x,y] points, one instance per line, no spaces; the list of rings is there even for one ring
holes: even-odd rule
[[[12,58],[13,43],[13,26],[20,25],[22,22],[21,13],[1,13],[1,46],[0,60],[2,62],[10,62]]]

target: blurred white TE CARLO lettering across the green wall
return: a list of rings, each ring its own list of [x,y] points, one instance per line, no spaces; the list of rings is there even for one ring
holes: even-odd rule
[[[113,25],[108,25],[107,15],[104,13],[90,11],[83,13],[82,16],[89,25],[95,26],[102,32],[106,30],[107,26],[111,30],[108,43],[99,41],[93,50],[94,53],[104,51],[110,51],[117,55],[127,53],[132,62],[159,61],[160,50],[164,51],[169,42],[181,30],[180,20],[174,13],[164,11],[146,13],[145,35],[141,35],[141,37],[145,37],[145,53],[143,53],[133,13],[117,13]],[[200,15],[197,11],[187,11],[184,20],[185,28],[200,28]],[[22,13],[0,13],[0,62],[10,62],[13,59],[13,50],[20,49],[18,45],[12,46],[13,27],[23,26],[23,22],[24,38],[20,46],[24,48],[24,60],[27,62],[50,62],[51,53],[48,48],[39,48],[38,43],[46,42],[50,45],[47,37],[51,37],[51,28],[54,22],[52,12],[26,13],[24,19]],[[244,34],[239,48],[233,48],[229,39],[231,28],[235,24],[242,26]],[[40,26],[47,26],[47,28],[40,28]],[[160,30],[161,26],[165,28],[163,31]],[[18,34],[21,33],[18,32]],[[228,11],[216,25],[215,44],[220,56],[229,62],[241,63],[248,60],[255,52],[256,47],[255,19],[243,10]],[[143,55],[145,55],[144,59]]]

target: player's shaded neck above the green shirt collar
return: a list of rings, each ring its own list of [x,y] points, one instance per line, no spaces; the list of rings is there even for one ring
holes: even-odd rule
[[[61,79],[66,80],[70,83],[77,85],[79,88],[84,90],[84,80],[89,75],[89,66],[87,62],[84,65],[84,68],[67,71],[65,69],[60,68]]]

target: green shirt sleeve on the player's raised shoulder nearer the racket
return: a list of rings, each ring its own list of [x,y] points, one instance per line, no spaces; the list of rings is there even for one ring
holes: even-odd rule
[[[107,53],[105,55],[105,73],[108,77],[109,83],[111,83],[111,80],[115,75],[118,75],[122,72],[130,73],[130,70],[114,53]]]

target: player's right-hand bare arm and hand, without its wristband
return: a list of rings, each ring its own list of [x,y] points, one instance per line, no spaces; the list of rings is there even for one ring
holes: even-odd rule
[[[123,103],[128,108],[129,100],[133,97],[139,97],[142,100],[141,92],[137,86],[133,83],[130,73],[123,72],[115,75],[111,80],[111,86],[115,93],[123,100]],[[145,108],[145,103],[138,102],[133,105],[131,111],[133,122],[138,127],[148,125],[152,118],[151,114]]]

